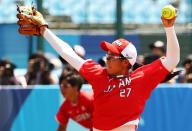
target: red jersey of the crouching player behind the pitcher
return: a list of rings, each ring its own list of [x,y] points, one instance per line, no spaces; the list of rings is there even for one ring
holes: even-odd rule
[[[61,125],[67,125],[69,118],[92,131],[93,95],[80,92],[76,104],[65,100],[57,112],[56,119]]]

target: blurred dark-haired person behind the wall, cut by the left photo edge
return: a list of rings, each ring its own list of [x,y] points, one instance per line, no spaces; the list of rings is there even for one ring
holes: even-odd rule
[[[8,60],[0,60],[0,85],[20,85],[14,75],[16,66]]]

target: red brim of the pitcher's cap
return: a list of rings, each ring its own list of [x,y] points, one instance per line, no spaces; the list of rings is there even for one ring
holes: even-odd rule
[[[102,41],[100,43],[100,47],[104,51],[111,51],[111,52],[118,54],[118,55],[120,54],[119,50],[114,45],[112,45],[111,43],[109,43],[107,41]]]

